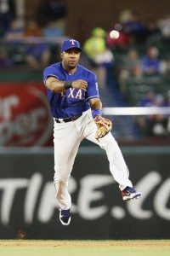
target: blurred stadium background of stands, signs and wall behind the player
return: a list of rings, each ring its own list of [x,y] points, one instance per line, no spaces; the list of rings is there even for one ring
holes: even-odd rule
[[[170,2],[0,3],[0,239],[169,239]],[[81,64],[99,74],[103,112],[113,119],[113,136],[143,198],[122,202],[105,154],[84,141],[65,229],[54,199],[53,123],[42,71],[59,61],[65,38],[85,49],[96,33],[109,55],[94,62],[84,50]],[[137,58],[128,58],[131,49]]]

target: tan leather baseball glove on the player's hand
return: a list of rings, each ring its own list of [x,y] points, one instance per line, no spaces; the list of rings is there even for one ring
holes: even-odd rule
[[[96,134],[95,134],[96,139],[104,137],[112,129],[111,120],[105,119],[101,117],[99,114],[95,116],[94,122],[98,127],[98,130],[96,131]]]

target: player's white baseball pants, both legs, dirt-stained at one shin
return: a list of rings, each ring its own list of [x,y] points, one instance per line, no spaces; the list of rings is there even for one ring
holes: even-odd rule
[[[94,123],[90,109],[75,121],[56,123],[54,120],[54,186],[56,199],[62,210],[71,208],[68,181],[79,145],[84,138],[105,149],[111,174],[121,190],[133,186],[128,178],[129,173],[122,152],[111,132],[97,140],[96,131],[97,125]]]

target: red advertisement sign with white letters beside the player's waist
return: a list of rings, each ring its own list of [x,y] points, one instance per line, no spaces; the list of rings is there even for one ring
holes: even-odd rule
[[[0,146],[52,144],[53,121],[42,83],[0,84]]]

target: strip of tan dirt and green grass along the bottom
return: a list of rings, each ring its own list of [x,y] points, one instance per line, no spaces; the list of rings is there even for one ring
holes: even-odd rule
[[[169,256],[170,241],[0,241],[0,255]]]

